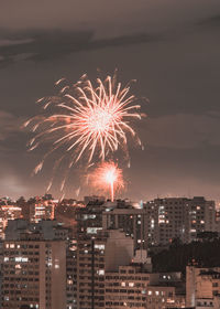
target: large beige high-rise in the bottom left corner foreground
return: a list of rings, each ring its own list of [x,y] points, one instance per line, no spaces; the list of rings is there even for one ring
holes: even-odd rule
[[[4,241],[2,268],[2,308],[66,308],[65,241],[45,241],[40,233]]]

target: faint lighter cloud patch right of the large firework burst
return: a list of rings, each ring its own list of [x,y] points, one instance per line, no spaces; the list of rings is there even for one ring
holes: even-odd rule
[[[190,149],[220,146],[219,132],[219,114],[210,113],[207,115],[177,114],[150,118],[144,135],[148,146]]]

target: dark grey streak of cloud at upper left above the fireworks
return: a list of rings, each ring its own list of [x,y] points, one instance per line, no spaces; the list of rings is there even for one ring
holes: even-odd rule
[[[7,35],[7,34],[4,34]],[[15,35],[15,34],[14,34]],[[20,40],[16,36],[20,36]],[[111,46],[125,46],[161,40],[158,34],[136,33],[106,40],[95,40],[94,31],[30,31],[18,33],[15,38],[0,41],[0,63],[16,61],[52,60],[81,51],[92,51]]]

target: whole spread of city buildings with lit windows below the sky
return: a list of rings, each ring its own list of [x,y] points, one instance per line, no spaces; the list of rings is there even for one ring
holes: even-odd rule
[[[2,224],[1,224],[2,223]],[[155,271],[152,253],[219,235],[205,198],[0,201],[3,309],[220,308],[220,262]]]

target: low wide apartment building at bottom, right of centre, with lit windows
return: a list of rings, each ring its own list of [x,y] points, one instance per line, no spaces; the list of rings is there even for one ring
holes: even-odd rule
[[[185,289],[179,273],[154,274],[144,264],[120,266],[106,274],[106,309],[184,308]]]

